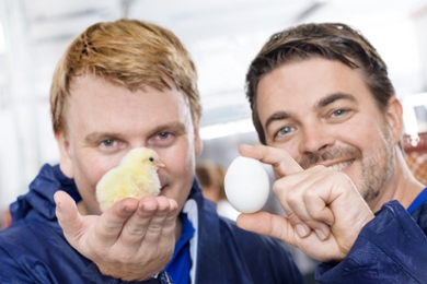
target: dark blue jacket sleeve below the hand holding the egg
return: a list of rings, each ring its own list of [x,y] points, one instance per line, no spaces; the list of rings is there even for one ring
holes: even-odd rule
[[[397,202],[385,203],[360,232],[347,258],[322,263],[319,283],[427,283],[427,238]]]

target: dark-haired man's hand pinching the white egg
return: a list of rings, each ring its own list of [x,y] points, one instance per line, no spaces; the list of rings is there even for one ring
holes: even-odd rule
[[[319,261],[343,260],[373,213],[345,174],[315,166],[303,170],[282,149],[241,145],[246,157],[270,164],[274,192],[287,216],[241,214],[238,226],[281,239]]]

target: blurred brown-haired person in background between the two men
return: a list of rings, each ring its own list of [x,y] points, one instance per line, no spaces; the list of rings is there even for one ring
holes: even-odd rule
[[[196,164],[196,175],[206,199],[217,203],[218,215],[235,221],[240,214],[228,201],[224,189],[227,169],[210,161]]]

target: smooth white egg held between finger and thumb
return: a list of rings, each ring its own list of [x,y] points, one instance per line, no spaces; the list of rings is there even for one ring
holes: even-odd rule
[[[227,198],[235,210],[254,213],[259,211],[268,199],[267,171],[259,161],[239,156],[227,169],[224,188]]]

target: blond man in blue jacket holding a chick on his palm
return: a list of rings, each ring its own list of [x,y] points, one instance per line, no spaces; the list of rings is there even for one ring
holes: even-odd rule
[[[302,282],[282,242],[238,228],[203,198],[196,69],[171,32],[92,25],[59,61],[50,106],[60,163],[43,166],[11,205],[1,283]],[[102,213],[97,181],[136,147],[165,165],[160,196]]]

